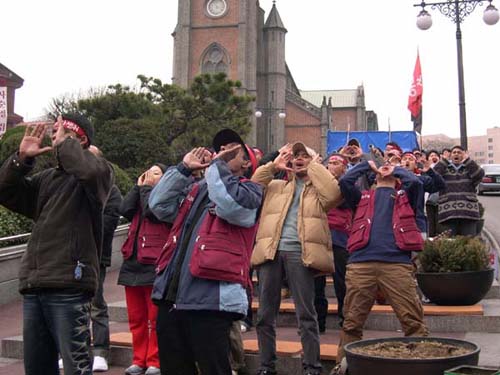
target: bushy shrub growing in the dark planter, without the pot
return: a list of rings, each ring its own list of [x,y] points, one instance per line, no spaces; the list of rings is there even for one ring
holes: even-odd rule
[[[426,240],[418,259],[423,272],[481,271],[490,268],[487,246],[478,237]]]

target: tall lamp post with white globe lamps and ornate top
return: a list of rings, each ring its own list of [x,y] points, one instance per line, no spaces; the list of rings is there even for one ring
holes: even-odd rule
[[[471,14],[476,6],[489,2],[483,13],[483,20],[487,25],[494,25],[498,22],[500,15],[492,3],[493,0],[447,0],[438,3],[414,4],[415,7],[422,7],[417,16],[417,27],[421,30],[427,30],[432,26],[432,18],[429,12],[425,10],[427,5],[431,9],[438,9],[443,15],[450,18],[456,25],[457,39],[457,64],[458,64],[458,106],[460,110],[460,145],[467,149],[467,120],[465,115],[465,87],[464,87],[464,64],[462,56],[462,30],[460,24],[465,17]]]

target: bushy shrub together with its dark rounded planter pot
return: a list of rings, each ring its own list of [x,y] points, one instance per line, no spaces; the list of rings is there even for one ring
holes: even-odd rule
[[[438,305],[474,305],[493,283],[488,249],[478,237],[429,239],[418,260],[418,286]]]

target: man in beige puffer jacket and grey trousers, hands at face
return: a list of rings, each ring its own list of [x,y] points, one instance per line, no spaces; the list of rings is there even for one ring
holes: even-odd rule
[[[319,330],[314,308],[314,275],[333,272],[327,212],[342,199],[335,177],[303,143],[287,145],[252,180],[265,187],[259,230],[252,254],[259,278],[257,337],[259,374],[276,374],[276,316],[281,284],[287,275],[297,311],[304,374],[321,373]],[[289,167],[291,163],[291,168]],[[284,170],[289,180],[275,180]]]

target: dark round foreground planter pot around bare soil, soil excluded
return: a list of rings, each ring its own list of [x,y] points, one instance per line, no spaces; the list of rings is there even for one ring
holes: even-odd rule
[[[459,356],[432,359],[383,358],[353,352],[353,349],[356,348],[390,341],[434,341],[461,346],[470,349],[471,352]],[[389,337],[383,339],[361,340],[347,344],[344,349],[346,352],[349,375],[443,375],[445,370],[453,367],[477,365],[480,352],[479,347],[471,342],[440,337]]]

